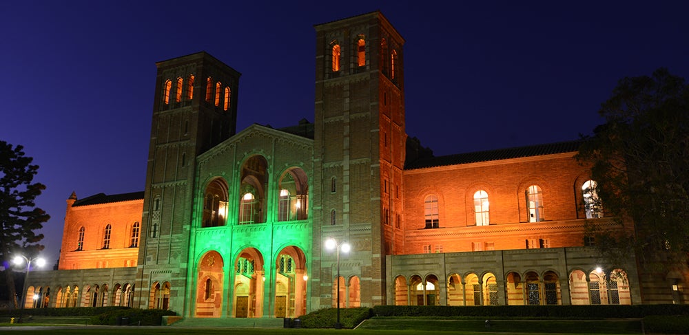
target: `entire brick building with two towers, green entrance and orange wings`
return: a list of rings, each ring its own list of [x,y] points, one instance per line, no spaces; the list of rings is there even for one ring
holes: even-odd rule
[[[433,157],[408,138],[403,46],[380,12],[316,25],[313,123],[239,132],[239,72],[205,52],[157,63],[145,190],[72,194],[59,270],[32,272],[27,307],[686,301],[686,273],[596,254],[588,226],[633,226],[599,206],[579,142]]]

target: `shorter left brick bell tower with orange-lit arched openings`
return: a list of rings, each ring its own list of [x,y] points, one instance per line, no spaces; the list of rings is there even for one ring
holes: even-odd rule
[[[240,73],[206,52],[156,67],[134,305],[183,311],[196,157],[236,132]]]

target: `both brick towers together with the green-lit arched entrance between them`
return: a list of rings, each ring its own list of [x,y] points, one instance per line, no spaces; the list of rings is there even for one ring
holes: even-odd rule
[[[139,307],[295,317],[333,306],[338,280],[350,307],[385,303],[404,226],[404,39],[380,12],[315,28],[309,131],[238,132],[240,73],[205,52],[156,64]],[[352,247],[340,278],[328,238]]]

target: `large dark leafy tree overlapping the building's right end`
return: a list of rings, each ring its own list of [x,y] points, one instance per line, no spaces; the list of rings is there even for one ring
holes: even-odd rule
[[[586,138],[577,158],[591,164],[606,213],[633,233],[595,231],[615,261],[635,252],[645,268],[686,266],[689,250],[689,87],[660,68],[619,80],[599,111],[606,123]],[[616,254],[617,253],[617,254]],[[627,254],[628,255],[628,254]]]

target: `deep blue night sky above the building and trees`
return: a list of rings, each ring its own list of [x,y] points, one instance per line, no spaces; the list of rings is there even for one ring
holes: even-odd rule
[[[620,78],[689,78],[689,1],[3,1],[0,140],[41,166],[41,255],[72,191],[143,191],[156,61],[241,72],[238,131],[313,122],[313,25],[375,10],[407,41],[407,133],[435,155],[575,140]]]

